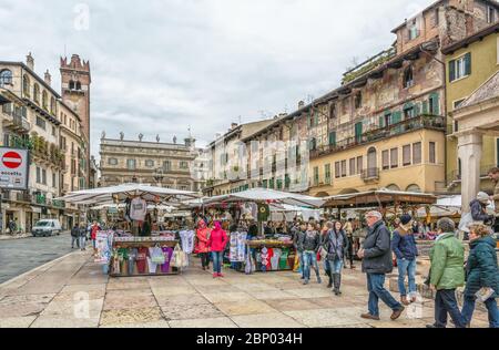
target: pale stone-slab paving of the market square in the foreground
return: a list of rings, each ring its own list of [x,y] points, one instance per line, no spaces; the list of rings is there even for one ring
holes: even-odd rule
[[[380,321],[361,319],[367,291],[358,270],[345,270],[343,296],[335,297],[325,284],[303,286],[291,271],[226,270],[225,278],[213,279],[193,261],[196,266],[180,276],[109,278],[89,251],[74,253],[0,286],[0,328],[419,328],[432,322],[429,299],[397,321],[383,303]],[[487,326],[487,316],[477,312],[472,327]]]

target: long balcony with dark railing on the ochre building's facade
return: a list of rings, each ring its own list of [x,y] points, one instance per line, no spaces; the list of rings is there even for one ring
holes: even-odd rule
[[[389,138],[421,128],[431,128],[445,132],[445,117],[435,115],[419,115],[405,120],[400,123],[391,124],[385,127],[378,127],[358,136],[347,137],[335,144],[317,147],[316,150],[310,151],[310,158],[317,158],[324,155],[332,154],[334,152],[345,151],[363,144]]]

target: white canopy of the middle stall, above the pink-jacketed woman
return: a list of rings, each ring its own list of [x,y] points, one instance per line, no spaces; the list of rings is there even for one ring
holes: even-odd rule
[[[320,207],[324,204],[323,198],[315,198],[294,193],[279,192],[266,188],[252,188],[234,194],[215,196],[205,198],[204,205],[218,203],[235,203],[235,202],[275,202],[281,204]]]

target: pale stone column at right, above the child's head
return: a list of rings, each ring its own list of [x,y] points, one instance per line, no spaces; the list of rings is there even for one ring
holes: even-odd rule
[[[480,161],[483,136],[477,131],[458,134],[458,156],[461,159],[462,213],[469,213],[469,203],[480,192]]]

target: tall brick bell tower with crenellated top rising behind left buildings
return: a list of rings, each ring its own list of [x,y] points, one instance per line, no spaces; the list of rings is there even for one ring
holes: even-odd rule
[[[73,54],[70,62],[61,58],[60,71],[62,101],[80,116],[90,144],[90,62],[82,61],[78,54]]]

